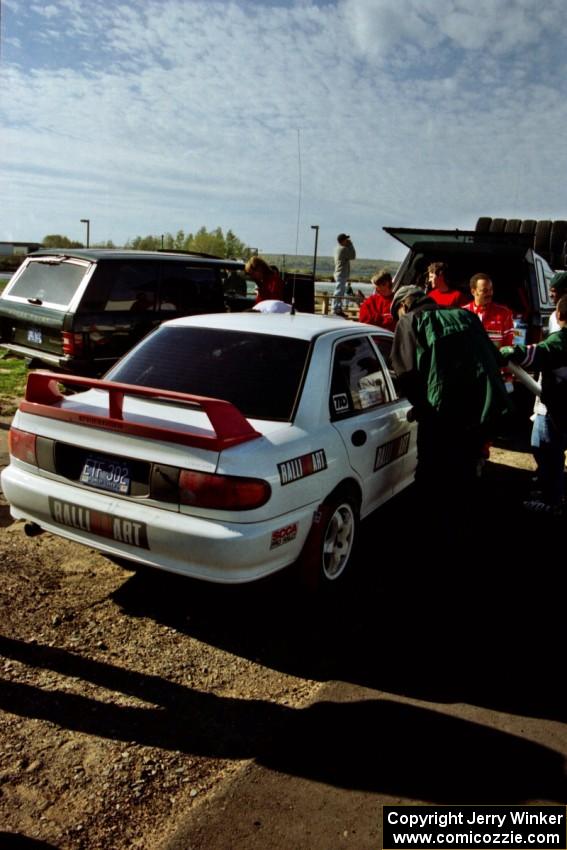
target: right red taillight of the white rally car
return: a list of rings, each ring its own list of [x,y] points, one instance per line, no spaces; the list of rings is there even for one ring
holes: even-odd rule
[[[182,469],[179,476],[180,503],[198,508],[249,511],[265,505],[271,492],[268,482],[259,478],[213,475],[193,469]]]

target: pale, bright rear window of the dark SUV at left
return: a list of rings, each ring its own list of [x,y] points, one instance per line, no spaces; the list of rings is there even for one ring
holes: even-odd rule
[[[59,260],[32,260],[6,294],[67,306],[88,265]]]

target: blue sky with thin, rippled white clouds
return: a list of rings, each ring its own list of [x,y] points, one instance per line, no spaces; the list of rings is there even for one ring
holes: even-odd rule
[[[0,2],[0,241],[567,218],[562,0]]]

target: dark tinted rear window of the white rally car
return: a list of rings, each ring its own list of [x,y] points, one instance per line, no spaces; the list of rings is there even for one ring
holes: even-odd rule
[[[290,421],[309,343],[212,328],[162,327],[106,376],[143,387],[222,398],[252,419]]]

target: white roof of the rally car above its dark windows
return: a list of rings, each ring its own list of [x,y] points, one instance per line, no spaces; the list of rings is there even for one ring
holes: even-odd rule
[[[198,327],[215,330],[247,331],[250,333],[271,334],[274,336],[295,337],[312,340],[327,333],[368,333],[370,326],[361,325],[348,319],[335,316],[322,316],[317,313],[260,313],[245,310],[242,313],[208,313],[200,316],[184,316],[165,322],[162,327]],[[385,333],[380,328],[373,332]]]

